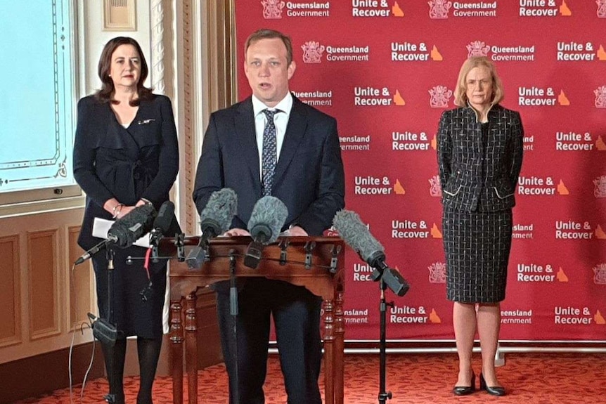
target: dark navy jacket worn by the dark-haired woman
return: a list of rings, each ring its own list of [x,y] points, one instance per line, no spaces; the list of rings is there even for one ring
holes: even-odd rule
[[[89,249],[95,217],[112,219],[103,204],[112,197],[134,205],[141,198],[156,209],[169,199],[179,171],[179,146],[169,98],[141,100],[127,129],[118,123],[108,103],[94,96],[78,102],[74,143],[74,177],[86,193],[86,208],[78,244]]]

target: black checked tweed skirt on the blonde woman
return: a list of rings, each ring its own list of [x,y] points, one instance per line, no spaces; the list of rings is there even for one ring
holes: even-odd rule
[[[467,212],[444,207],[446,295],[461,303],[505,299],[511,249],[511,209]]]

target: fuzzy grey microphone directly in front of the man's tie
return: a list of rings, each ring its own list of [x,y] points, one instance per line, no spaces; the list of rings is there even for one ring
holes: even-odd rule
[[[248,231],[252,242],[244,256],[244,265],[256,269],[261,261],[263,247],[275,242],[288,217],[288,208],[277,197],[262,197],[252,207]]]

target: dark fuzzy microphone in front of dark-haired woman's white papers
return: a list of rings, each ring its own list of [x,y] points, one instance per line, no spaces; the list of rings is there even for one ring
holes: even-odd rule
[[[74,265],[83,263],[110,245],[115,244],[122,248],[132,245],[139,237],[150,230],[154,216],[155,209],[152,204],[144,204],[131,210],[122,219],[118,219],[112,224],[108,231],[107,240],[98,242],[94,247],[87,250],[75,261]]]

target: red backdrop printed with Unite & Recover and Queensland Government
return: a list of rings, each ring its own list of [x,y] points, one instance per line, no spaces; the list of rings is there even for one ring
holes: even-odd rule
[[[524,123],[501,339],[606,337],[606,0],[236,0],[248,34],[292,37],[297,97],[337,118],[346,209],[410,282],[388,339],[452,339],[435,134],[463,60],[494,60]],[[378,339],[379,287],[346,258],[347,340]]]

